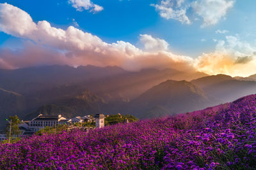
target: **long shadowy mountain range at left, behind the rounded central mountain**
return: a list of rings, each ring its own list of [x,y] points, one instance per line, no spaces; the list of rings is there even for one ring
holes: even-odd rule
[[[10,111],[17,113],[20,118],[29,113],[37,115],[38,111],[51,114],[60,110],[71,115],[125,112],[128,101],[163,81],[190,80],[205,75],[174,69],[143,69],[131,72],[116,66],[90,65],[0,69],[0,88],[21,96],[11,97],[12,99],[0,96],[5,102],[1,109],[8,115]],[[13,103],[15,100],[17,102]],[[157,106],[156,111],[160,108],[166,112],[162,106]],[[0,115],[3,115],[2,112]],[[161,115],[160,112],[159,114]]]

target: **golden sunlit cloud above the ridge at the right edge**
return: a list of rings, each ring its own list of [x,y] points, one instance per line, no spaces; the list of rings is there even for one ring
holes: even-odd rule
[[[208,74],[249,76],[255,74],[256,46],[241,41],[237,36],[226,36],[217,41],[216,50],[203,53],[195,61],[198,71]]]

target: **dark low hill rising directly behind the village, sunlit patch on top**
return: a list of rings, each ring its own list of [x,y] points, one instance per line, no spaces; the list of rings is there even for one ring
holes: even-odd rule
[[[45,94],[42,92],[42,96],[40,96],[39,93],[38,96],[31,98],[31,103],[36,101],[33,105],[37,107],[31,108],[30,110],[33,111],[24,115],[23,118],[36,117],[38,113],[61,114],[72,118],[77,115],[99,113],[104,110],[106,105],[101,97],[76,86],[56,87]]]

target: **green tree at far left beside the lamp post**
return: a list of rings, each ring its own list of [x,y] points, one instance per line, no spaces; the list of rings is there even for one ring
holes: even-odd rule
[[[6,127],[6,136],[9,138],[10,142],[10,138],[12,138],[13,135],[18,136],[20,134],[20,120],[19,117],[15,115],[14,117],[10,116],[9,118],[6,118],[6,121],[8,122]]]

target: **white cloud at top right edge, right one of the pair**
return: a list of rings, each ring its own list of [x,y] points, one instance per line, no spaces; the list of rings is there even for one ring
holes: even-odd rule
[[[235,1],[229,0],[196,0],[191,4],[196,14],[203,18],[202,27],[217,24],[225,18],[227,11],[233,7]]]

